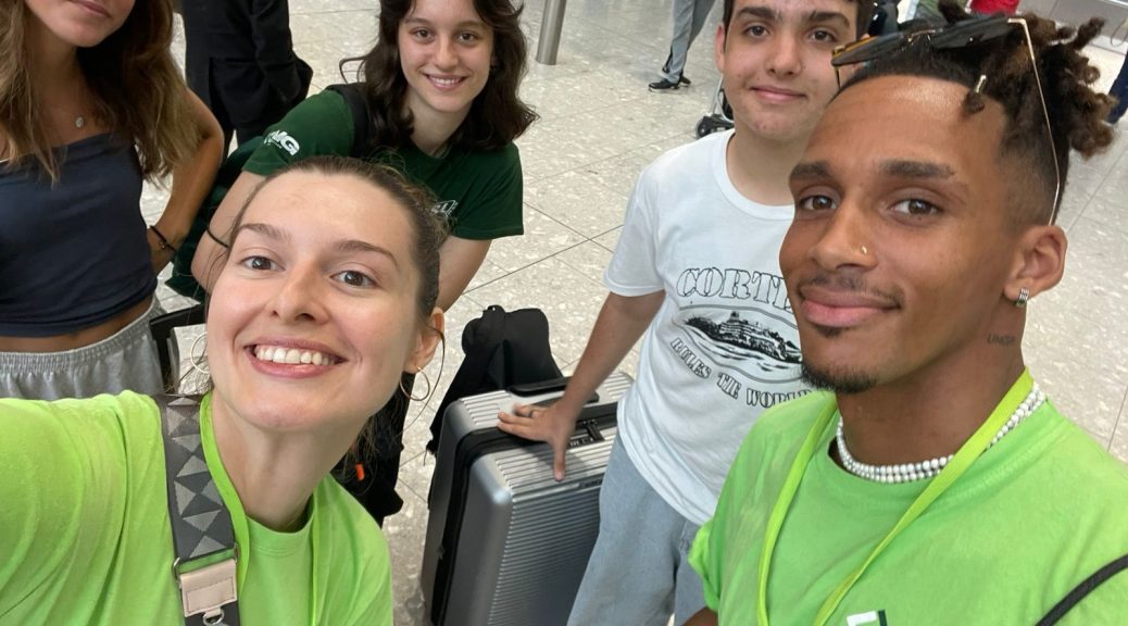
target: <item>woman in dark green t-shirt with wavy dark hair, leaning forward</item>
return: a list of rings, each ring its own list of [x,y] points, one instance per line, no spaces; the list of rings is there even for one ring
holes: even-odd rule
[[[493,239],[520,235],[521,162],[513,140],[536,120],[518,97],[526,68],[521,9],[510,0],[381,0],[376,46],[362,59],[361,90],[371,114],[369,144],[342,94],[325,90],[267,129],[200,241],[192,273],[204,289],[231,220],[247,193],[280,167],[315,155],[367,155],[435,196],[450,235],[440,250],[438,305],[461,296]],[[310,211],[311,219],[316,209]],[[374,441],[361,442],[368,478],[350,490],[378,521],[395,513],[411,378],[381,416]]]

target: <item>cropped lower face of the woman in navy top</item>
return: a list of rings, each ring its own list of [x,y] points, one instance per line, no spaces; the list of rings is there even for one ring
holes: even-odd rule
[[[23,0],[30,26],[76,47],[102,43],[125,24],[133,0]]]

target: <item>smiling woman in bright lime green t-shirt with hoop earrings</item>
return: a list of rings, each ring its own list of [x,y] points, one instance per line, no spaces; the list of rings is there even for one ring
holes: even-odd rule
[[[180,623],[175,495],[204,531],[195,500],[230,512],[244,625],[390,625],[387,546],[327,474],[441,336],[441,228],[424,197],[337,157],[253,192],[209,308],[214,389],[197,434],[168,443],[170,458],[202,447],[205,467],[167,473],[175,490],[152,398],[0,399],[0,621]],[[214,490],[191,500],[196,475]]]

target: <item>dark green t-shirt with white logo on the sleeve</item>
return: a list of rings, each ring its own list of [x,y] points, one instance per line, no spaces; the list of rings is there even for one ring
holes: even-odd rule
[[[282,166],[317,155],[347,157],[353,118],[344,96],[321,91],[294,107],[266,130],[263,146],[243,169],[266,176]],[[413,143],[378,150],[372,160],[390,166],[435,195],[434,209],[450,232],[462,239],[497,239],[521,235],[521,158],[517,146],[499,150],[450,148],[440,157]]]

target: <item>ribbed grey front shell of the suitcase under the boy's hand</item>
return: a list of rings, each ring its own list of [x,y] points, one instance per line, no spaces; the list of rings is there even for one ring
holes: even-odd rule
[[[509,535],[490,605],[491,626],[563,624],[599,534],[599,487],[610,455],[607,441],[574,450],[564,483],[545,475],[552,455],[500,453],[497,471],[512,488]],[[521,451],[514,451],[521,452]],[[546,605],[559,605],[545,610]]]

